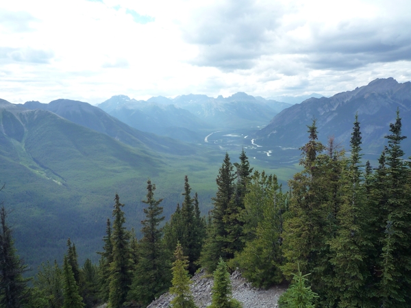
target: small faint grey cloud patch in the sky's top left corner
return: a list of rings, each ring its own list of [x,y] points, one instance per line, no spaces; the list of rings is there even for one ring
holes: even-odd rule
[[[11,32],[32,31],[31,23],[38,19],[28,12],[0,10],[0,25]]]

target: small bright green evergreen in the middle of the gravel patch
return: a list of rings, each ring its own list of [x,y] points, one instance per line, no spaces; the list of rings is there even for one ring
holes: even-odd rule
[[[241,308],[241,303],[232,298],[232,285],[229,280],[227,264],[220,258],[219,265],[214,271],[212,286],[212,301],[209,308]]]

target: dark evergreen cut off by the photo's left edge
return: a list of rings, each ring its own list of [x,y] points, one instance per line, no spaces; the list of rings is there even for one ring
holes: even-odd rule
[[[4,207],[0,210],[0,307],[19,308],[28,300],[28,279],[23,278],[27,266],[16,255],[12,230],[5,221]]]

